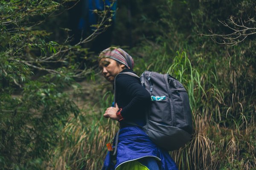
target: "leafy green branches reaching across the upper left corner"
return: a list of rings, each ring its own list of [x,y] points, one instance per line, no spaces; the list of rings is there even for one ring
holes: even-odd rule
[[[9,43],[5,46],[5,54],[8,56],[6,61],[22,63],[29,68],[47,71],[50,74],[65,76],[65,73],[67,73],[69,77],[84,77],[86,74],[90,74],[92,68],[79,70],[79,67],[70,62],[70,59],[73,61],[73,58],[77,55],[86,55],[81,45],[92,41],[110,26],[111,18],[114,15],[113,11],[111,11],[111,6],[105,6],[103,11],[93,11],[98,15],[99,21],[96,25],[92,26],[93,32],[88,37],[82,38],[83,36],[81,35],[81,39],[76,45],[70,45],[73,37],[69,36],[68,31],[70,30],[67,28],[64,28],[67,38],[61,44],[55,41],[46,42],[44,37],[49,35],[48,33],[33,30],[35,26],[44,23],[50,17],[57,16],[72,8],[64,8],[63,11],[55,14],[56,11],[60,10],[60,7],[65,6],[65,3],[70,1],[73,0],[64,0],[60,1],[60,3],[48,2],[47,8],[45,8],[44,1],[28,0],[26,3],[19,3],[13,0],[9,3],[4,1],[4,6],[0,8],[0,12],[3,13],[2,17],[0,17],[0,24],[2,25],[0,31],[3,34],[3,39],[9,39]],[[44,17],[43,20],[30,21],[30,18],[40,18],[41,16]],[[39,50],[41,51],[40,55],[38,55]],[[62,63],[61,66],[69,70],[63,71],[59,67],[49,67],[49,63]],[[6,72],[4,68],[1,70]],[[15,78],[12,79],[16,85],[20,86]]]

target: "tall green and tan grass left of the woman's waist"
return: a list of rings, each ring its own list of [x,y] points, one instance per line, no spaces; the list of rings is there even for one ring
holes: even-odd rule
[[[98,93],[97,96],[101,94]],[[112,142],[118,129],[116,121],[103,118],[105,109],[110,107],[113,101],[112,93],[108,91],[101,97],[96,97],[99,102],[94,105],[90,104],[89,99],[85,100],[82,105],[86,107],[81,108],[81,115],[70,117],[63,130],[61,142],[55,149],[52,167],[49,169],[101,169],[107,153],[106,144]]]

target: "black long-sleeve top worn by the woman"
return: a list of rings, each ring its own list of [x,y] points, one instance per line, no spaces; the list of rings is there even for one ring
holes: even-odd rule
[[[130,69],[124,69],[123,72],[131,72]],[[122,108],[121,115],[124,118],[122,122],[131,121],[137,125],[145,125],[145,113],[150,105],[151,96],[140,84],[138,77],[128,74],[118,74],[116,76],[116,102],[119,108]]]

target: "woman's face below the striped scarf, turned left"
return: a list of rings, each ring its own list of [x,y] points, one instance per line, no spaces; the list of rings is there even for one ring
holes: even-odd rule
[[[109,82],[114,82],[117,74],[119,74],[125,65],[117,64],[116,60],[110,58],[102,58],[99,60],[99,68],[102,70],[102,74]]]

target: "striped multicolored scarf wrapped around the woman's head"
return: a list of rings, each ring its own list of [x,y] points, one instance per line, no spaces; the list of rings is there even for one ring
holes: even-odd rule
[[[99,60],[102,58],[111,58],[124,64],[127,68],[133,69],[133,58],[121,48],[110,47],[99,54]]]

